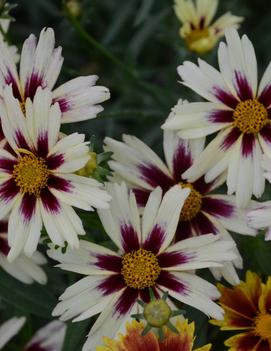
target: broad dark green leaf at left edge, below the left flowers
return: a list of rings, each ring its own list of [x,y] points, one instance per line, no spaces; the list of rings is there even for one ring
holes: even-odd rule
[[[46,286],[26,285],[0,270],[0,297],[26,314],[51,318],[57,300]]]

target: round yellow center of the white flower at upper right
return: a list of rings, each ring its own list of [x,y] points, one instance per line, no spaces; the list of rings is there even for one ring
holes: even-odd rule
[[[233,125],[243,133],[258,133],[269,123],[266,108],[255,99],[239,102],[233,112],[233,119]]]

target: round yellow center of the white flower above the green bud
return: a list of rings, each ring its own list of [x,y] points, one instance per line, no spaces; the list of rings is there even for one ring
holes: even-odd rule
[[[130,288],[145,289],[153,286],[160,272],[158,260],[151,251],[139,249],[123,256],[121,274]]]

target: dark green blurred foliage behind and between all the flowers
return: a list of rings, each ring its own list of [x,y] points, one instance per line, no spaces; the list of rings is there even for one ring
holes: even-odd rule
[[[67,133],[81,131],[96,135],[96,148],[102,150],[105,136],[120,138],[123,132],[134,134],[162,151],[160,125],[178,98],[199,99],[179,83],[176,67],[184,60],[196,61],[187,52],[178,35],[180,23],[171,0],[84,0],[82,16],[68,18],[60,0],[17,0],[12,11],[16,21],[9,32],[10,42],[22,46],[30,33],[39,34],[51,26],[57,45],[63,47],[64,67],[59,83],[78,75],[97,74],[99,84],[109,87],[111,99],[103,104],[99,118],[65,125]],[[247,33],[256,48],[259,73],[271,57],[271,2],[265,0],[221,0],[219,14],[231,11],[245,17],[241,32]],[[216,50],[204,57],[217,66]],[[270,199],[270,187],[265,199]],[[81,213],[88,240],[110,245],[95,214]],[[245,269],[271,274],[271,246],[263,236],[250,238],[235,235],[244,257]],[[57,297],[76,281],[75,274],[46,268],[47,287],[23,285],[0,269],[0,320],[26,315],[28,322],[20,336],[5,350],[19,351],[32,333],[50,320]],[[244,270],[245,271],[245,270]],[[240,276],[244,277],[244,271]],[[206,271],[201,275],[213,281]],[[218,333],[200,312],[187,308],[187,317],[197,322],[197,345],[212,342],[214,350],[223,350],[223,339],[229,333]],[[80,350],[93,320],[69,324],[63,350]]]

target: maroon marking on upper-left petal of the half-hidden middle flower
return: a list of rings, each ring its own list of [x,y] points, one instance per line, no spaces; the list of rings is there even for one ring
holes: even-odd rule
[[[160,186],[164,191],[167,191],[174,185],[173,179],[154,165],[139,165],[138,169],[141,172],[141,179],[143,179],[153,188]]]

